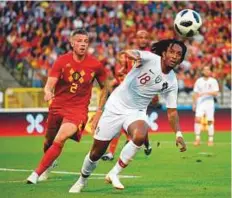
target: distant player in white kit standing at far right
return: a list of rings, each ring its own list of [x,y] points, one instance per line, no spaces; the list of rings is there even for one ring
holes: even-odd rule
[[[196,139],[195,146],[200,145],[201,119],[205,115],[208,121],[208,146],[213,146],[214,138],[214,97],[219,93],[218,82],[211,77],[209,66],[202,71],[203,77],[197,79],[194,84],[193,111],[195,111],[194,131]]]

